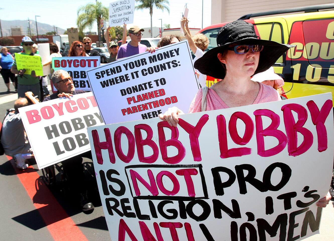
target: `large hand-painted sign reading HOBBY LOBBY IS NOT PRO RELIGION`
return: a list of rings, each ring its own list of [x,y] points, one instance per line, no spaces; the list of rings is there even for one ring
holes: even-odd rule
[[[111,239],[301,240],[333,170],[330,93],[88,128]]]

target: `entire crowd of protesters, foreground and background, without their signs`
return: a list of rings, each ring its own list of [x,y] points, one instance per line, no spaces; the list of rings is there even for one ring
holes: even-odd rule
[[[191,36],[187,18],[182,17],[180,24],[184,36],[174,34],[163,36],[156,47],[147,47],[140,43],[144,29],[138,26],[129,28],[128,36],[130,41],[126,42],[127,26],[126,24],[123,25],[122,44],[120,46],[115,40],[110,40],[110,28],[108,28],[106,33],[106,41],[110,53],[108,63],[145,51],[153,53],[160,47],[186,39],[195,55],[195,74],[199,85],[202,87],[195,95],[188,113],[281,100],[282,97],[277,90],[280,90],[284,85],[284,81],[274,73],[271,66],[291,45],[259,39],[252,24],[237,20],[222,27],[217,35],[218,46],[206,51],[209,44],[208,38],[200,33]],[[83,41],[74,41],[70,46],[68,56],[98,56],[98,51],[93,49],[91,45],[92,39],[89,37],[84,37]],[[28,36],[22,38],[22,46],[23,52],[19,54],[39,56],[38,46],[35,46]],[[57,45],[50,44],[50,60],[43,63],[43,66],[50,65],[52,57],[61,56],[58,50]],[[13,82],[14,75],[17,75],[19,99],[15,102],[14,110],[5,118],[1,141],[5,142],[3,144],[5,153],[14,158],[17,167],[26,169],[28,165],[25,160],[31,157],[32,151],[24,135],[24,128],[21,125],[22,121],[17,109],[28,105],[24,98],[26,92],[32,92],[36,96],[41,95],[40,79],[34,71],[28,75],[24,73],[24,70],[18,70],[15,59],[9,55],[8,49],[1,49],[0,73],[4,78],[8,91],[10,91],[9,79]],[[222,81],[207,88],[207,75],[222,79]],[[62,97],[69,98],[72,95],[84,93],[84,91],[75,90],[71,77],[64,70],[55,71],[52,76],[49,76],[49,79],[57,92],[45,96],[43,101]],[[163,121],[167,121],[170,126],[176,126],[178,124],[178,115],[183,113],[177,107],[172,107],[164,114],[160,114],[159,117]],[[14,126],[12,125],[13,123],[20,128],[15,130],[15,136],[10,136],[11,132],[14,133],[14,130],[11,129]],[[13,144],[15,138],[20,140]],[[91,152],[71,157],[63,161],[62,165],[69,176],[68,185],[79,187],[76,189],[76,196],[78,196],[81,209],[89,211],[94,209],[94,205],[88,197],[82,157],[92,158]],[[328,194],[318,201],[317,206],[325,207],[330,199],[331,195]]]

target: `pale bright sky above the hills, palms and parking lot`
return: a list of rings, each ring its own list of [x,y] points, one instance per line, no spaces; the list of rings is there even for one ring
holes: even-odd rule
[[[6,5],[1,4],[3,9],[0,10],[0,18],[1,20],[27,20],[28,18],[35,20],[35,15],[40,15],[41,17],[37,17],[37,22],[66,29],[76,26],[77,9],[90,2],[95,3],[95,1],[88,0],[9,0]],[[101,2],[109,8],[109,3],[113,2],[113,0],[102,0]],[[202,0],[169,0],[169,14],[167,11],[153,10],[153,26],[161,26],[159,19],[162,18],[162,24],[169,23],[171,28],[179,27],[180,16],[186,3],[189,8],[189,27],[201,28]],[[210,0],[204,0],[203,13],[203,27],[211,25]],[[135,11],[135,25],[150,27],[150,19],[148,10]],[[129,26],[131,25],[129,24]],[[86,30],[89,31],[89,29]],[[97,31],[96,24],[93,26],[92,31]]]

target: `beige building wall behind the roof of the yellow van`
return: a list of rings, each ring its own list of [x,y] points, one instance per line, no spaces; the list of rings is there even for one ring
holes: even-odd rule
[[[334,3],[328,0],[211,0],[211,24],[237,20],[249,13]]]

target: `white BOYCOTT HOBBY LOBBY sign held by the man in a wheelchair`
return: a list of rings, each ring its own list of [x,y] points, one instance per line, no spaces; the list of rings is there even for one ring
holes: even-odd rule
[[[87,127],[104,124],[91,92],[19,108],[38,168],[89,151]]]

